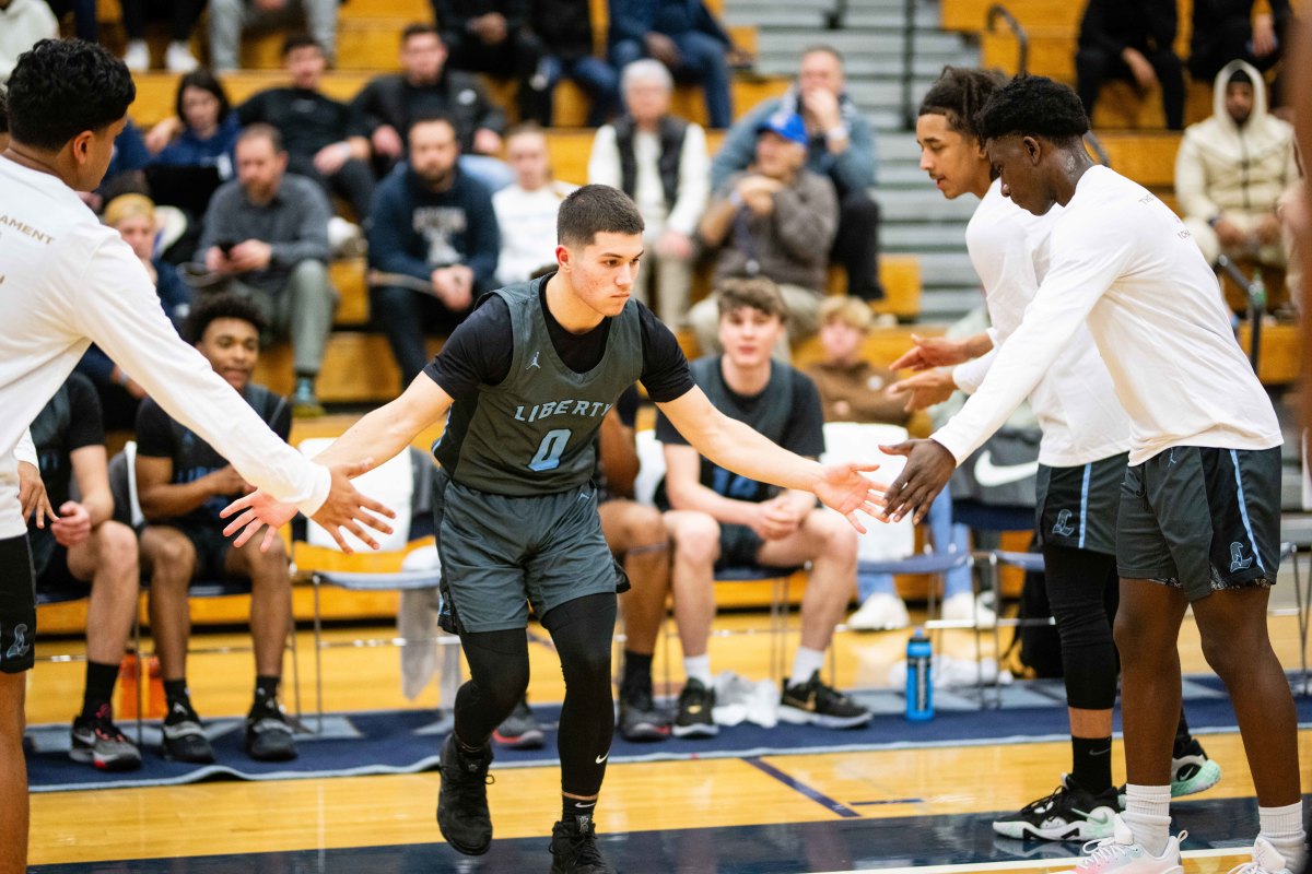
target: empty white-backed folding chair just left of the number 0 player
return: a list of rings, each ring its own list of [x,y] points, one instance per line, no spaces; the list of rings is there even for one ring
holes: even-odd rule
[[[331,439],[314,438],[302,440],[299,449],[303,455],[315,456],[332,443]],[[438,647],[438,670],[442,675],[442,700],[454,701],[455,688],[461,681],[461,650],[459,638],[454,634],[438,632],[432,637],[407,638],[403,636],[390,638],[357,638],[332,643],[323,638],[323,605],[320,591],[323,586],[335,586],[346,591],[407,591],[407,590],[433,590],[442,579],[440,566],[422,567],[416,570],[400,569],[407,550],[416,545],[416,541],[433,541],[433,515],[432,490],[433,472],[436,466],[432,456],[426,452],[409,448],[408,452],[398,453],[386,464],[358,477],[356,485],[371,498],[396,511],[392,520],[392,533],[379,540],[379,552],[369,550],[363,544],[356,541],[353,535],[346,537],[352,545],[365,556],[353,561],[342,554],[336,541],[314,522],[306,525],[304,546],[299,554],[302,563],[316,563],[311,567],[310,582],[314,586],[314,637],[315,637],[315,713],[318,731],[323,731],[323,650],[332,646],[344,647],[377,647],[377,646],[417,646],[433,645]],[[312,554],[311,554],[312,553]],[[380,563],[390,563],[395,569],[390,570],[361,570],[363,561],[377,567]]]

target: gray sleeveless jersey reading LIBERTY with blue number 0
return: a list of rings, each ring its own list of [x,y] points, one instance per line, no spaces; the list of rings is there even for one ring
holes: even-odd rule
[[[643,341],[638,304],[611,320],[606,351],[586,373],[556,354],[538,283],[500,288],[510,311],[514,349],[500,385],[480,385],[453,478],[501,495],[541,495],[592,478],[601,421],[619,393],[638,381]]]

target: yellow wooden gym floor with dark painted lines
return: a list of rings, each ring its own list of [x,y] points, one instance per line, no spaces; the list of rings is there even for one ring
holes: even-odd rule
[[[1288,592],[1292,594],[1292,592]],[[735,615],[722,629],[761,626],[762,616]],[[1287,667],[1298,664],[1294,617],[1271,621]],[[391,629],[342,629],[332,638],[388,636]],[[205,634],[197,645],[244,642],[240,634]],[[888,684],[907,633],[838,636],[838,681]],[[790,641],[795,646],[795,637]],[[312,642],[298,639],[302,700],[312,706]],[[42,643],[38,654],[75,650]],[[989,647],[991,649],[991,647]],[[554,653],[530,647],[530,700],[563,696]],[[760,677],[765,636],[712,641],[712,666]],[[945,633],[939,653],[972,656],[974,637]],[[677,642],[672,683],[681,684]],[[1203,672],[1197,633],[1181,639],[1186,672]],[[248,706],[248,653],[195,655],[193,698],[203,717],[239,715]],[[392,649],[324,653],[329,710],[433,708],[436,687],[416,702],[400,694]],[[664,658],[655,668],[660,685]],[[39,664],[29,687],[33,723],[64,722],[80,701],[80,664]],[[290,672],[289,672],[290,676]],[[285,698],[291,700],[290,693]],[[909,736],[913,736],[909,732]],[[1245,861],[1241,846],[1256,831],[1256,801],[1236,734],[1203,738],[1223,781],[1177,807],[1194,831],[1186,874],[1219,874]],[[154,750],[144,755],[157,755]],[[724,871],[736,874],[884,871],[1056,871],[1071,866],[1076,845],[994,839],[988,823],[1051,791],[1068,767],[1065,743],[984,743],[876,752],[707,759],[614,764],[598,807],[602,846],[628,874]],[[1115,753],[1120,776],[1119,742]],[[1312,789],[1312,731],[1300,732],[1303,789]],[[482,860],[447,848],[433,820],[436,773],[269,782],[46,793],[33,795],[31,864],[42,874],[300,874],[367,871],[543,871],[551,823],[559,814],[558,772],[517,768],[489,788],[497,840]]]

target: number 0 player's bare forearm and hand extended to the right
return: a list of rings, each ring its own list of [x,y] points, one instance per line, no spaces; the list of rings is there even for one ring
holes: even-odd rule
[[[874,515],[883,487],[863,472],[878,470],[878,464],[820,464],[803,459],[716,410],[699,388],[657,406],[715,464],[760,482],[806,489],[865,533],[857,512]]]

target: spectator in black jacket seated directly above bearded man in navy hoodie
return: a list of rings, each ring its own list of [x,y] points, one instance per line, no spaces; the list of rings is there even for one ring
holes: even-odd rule
[[[505,113],[488,100],[476,76],[446,69],[446,46],[433,25],[409,25],[401,33],[401,72],[379,76],[356,96],[353,107],[369,130],[374,155],[386,166],[405,153],[405,132],[416,118],[447,115],[461,144],[461,169],[491,190],[504,189],[514,173],[497,160]]]

